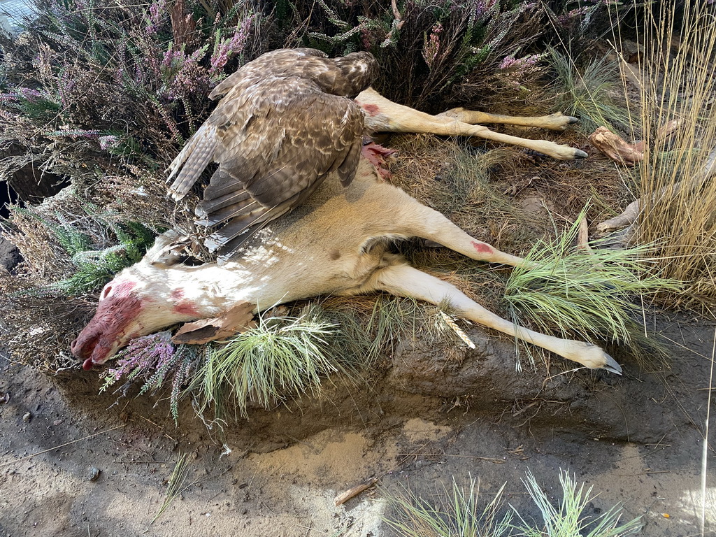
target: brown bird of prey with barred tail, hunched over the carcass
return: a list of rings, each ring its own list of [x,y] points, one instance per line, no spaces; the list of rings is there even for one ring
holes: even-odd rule
[[[178,200],[209,163],[218,163],[197,208],[198,223],[226,223],[208,239],[210,250],[231,256],[333,172],[349,185],[364,130],[353,99],[377,72],[369,52],[329,58],[315,49],[279,49],[213,89],[209,98],[223,98],[168,168]]]

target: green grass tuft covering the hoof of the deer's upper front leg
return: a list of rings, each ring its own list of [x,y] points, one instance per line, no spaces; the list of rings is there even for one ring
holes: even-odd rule
[[[650,271],[653,246],[586,253],[572,246],[578,231],[574,224],[556,242],[538,242],[526,256],[533,268],[513,269],[505,286],[513,319],[562,337],[636,346],[644,340],[637,301],[678,291],[679,282]]]

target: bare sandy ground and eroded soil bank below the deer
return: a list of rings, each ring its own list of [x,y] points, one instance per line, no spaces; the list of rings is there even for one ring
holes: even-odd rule
[[[642,516],[641,535],[700,535],[714,326],[682,318],[659,332],[673,341],[672,368],[620,359],[621,378],[561,374],[561,363],[548,380],[544,370],[516,373],[510,342],[483,332],[472,332],[480,344],[461,363],[406,342],[369,386],[337,379],[322,400],[254,410],[228,427],[231,453],[188,405],[176,428],[165,400],[110,407],[96,372],[47,379],[4,360],[0,533],[386,537],[395,533],[385,498],[405,488],[436,501],[472,475],[487,502],[506,483],[506,503],[529,519],[526,471],[556,497],[558,470],[569,469],[599,492],[586,515],[621,502],[625,517]],[[180,453],[183,491],[152,523]],[[379,488],[334,506],[372,476]],[[706,500],[705,534],[715,535],[712,470]]]

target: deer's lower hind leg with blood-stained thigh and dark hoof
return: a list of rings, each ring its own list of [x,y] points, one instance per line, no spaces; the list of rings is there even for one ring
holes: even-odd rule
[[[529,140],[517,136],[493,132],[482,125],[470,125],[453,119],[440,117],[414,110],[407,106],[397,105],[379,95],[374,89],[366,89],[356,97],[356,101],[365,111],[365,127],[372,131],[387,132],[424,132],[445,136],[476,136],[485,140],[493,140],[511,145],[519,145],[543,153],[557,160],[574,160],[585,158],[584,151],[559,145],[547,140]]]

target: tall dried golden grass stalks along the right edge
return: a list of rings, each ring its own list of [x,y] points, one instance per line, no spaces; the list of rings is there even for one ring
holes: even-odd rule
[[[716,305],[716,6],[647,3],[638,239],[659,243],[662,275],[687,284],[676,306]],[[680,4],[680,5],[679,5]],[[678,122],[670,136],[659,127]]]

